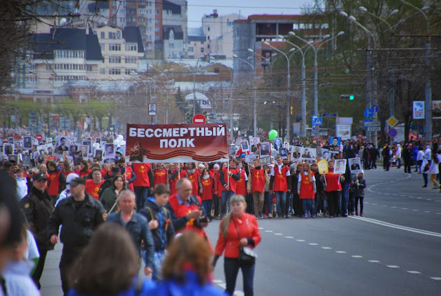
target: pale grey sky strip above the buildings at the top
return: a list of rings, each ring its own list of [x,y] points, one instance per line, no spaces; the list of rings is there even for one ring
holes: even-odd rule
[[[218,10],[219,15],[239,13],[247,17],[249,14],[300,14],[301,8],[313,5],[314,0],[187,0],[188,27],[201,26],[204,14]],[[240,3],[240,6],[238,6]]]

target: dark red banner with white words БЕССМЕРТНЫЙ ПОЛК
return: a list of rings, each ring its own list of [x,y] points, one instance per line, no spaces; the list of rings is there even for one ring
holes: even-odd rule
[[[228,161],[227,124],[127,124],[127,162]]]

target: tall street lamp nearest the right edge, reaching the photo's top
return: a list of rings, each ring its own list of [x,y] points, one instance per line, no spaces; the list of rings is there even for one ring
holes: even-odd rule
[[[424,6],[422,8],[418,8],[414,6],[413,4],[401,0],[402,3],[406,4],[407,6],[410,6],[411,8],[418,10],[420,14],[424,17],[426,20],[426,86],[424,90],[424,119],[425,119],[425,132],[424,132],[424,139],[426,139],[426,142],[432,141],[432,88],[430,83],[430,21],[427,18],[427,15],[424,13],[424,10],[429,9],[429,6]]]

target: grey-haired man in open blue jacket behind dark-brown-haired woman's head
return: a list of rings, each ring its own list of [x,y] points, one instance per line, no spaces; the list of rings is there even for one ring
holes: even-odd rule
[[[145,275],[152,275],[154,266],[154,243],[152,232],[147,223],[147,219],[143,215],[136,213],[134,210],[136,201],[135,195],[130,190],[122,190],[116,203],[120,211],[107,216],[106,221],[114,222],[125,228],[132,236],[133,242],[138,249],[141,257],[141,241],[145,244]]]

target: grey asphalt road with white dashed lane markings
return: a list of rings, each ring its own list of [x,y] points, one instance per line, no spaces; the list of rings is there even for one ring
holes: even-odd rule
[[[402,169],[365,179],[364,217],[258,220],[255,295],[441,295],[441,193]],[[218,224],[207,227],[213,246]],[[43,295],[61,295],[60,250],[46,259]],[[225,288],[222,258],[214,282]]]

